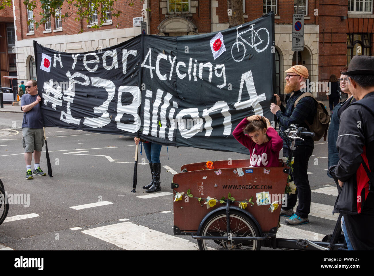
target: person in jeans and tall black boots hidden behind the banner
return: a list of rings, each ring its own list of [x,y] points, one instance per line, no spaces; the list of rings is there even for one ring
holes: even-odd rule
[[[160,186],[160,174],[161,174],[161,163],[160,163],[160,152],[162,145],[158,145],[152,142],[147,142],[140,140],[138,137],[134,137],[135,144],[139,144],[140,141],[143,142],[145,155],[147,156],[149,166],[151,169],[152,181],[148,185],[143,186],[146,189],[145,192],[153,193],[156,191],[161,191]]]

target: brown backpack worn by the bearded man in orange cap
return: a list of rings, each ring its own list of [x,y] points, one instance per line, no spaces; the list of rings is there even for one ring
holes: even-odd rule
[[[291,94],[291,97],[294,93]],[[312,97],[316,100],[316,98],[313,96],[310,92],[304,92],[302,93],[295,101],[294,107],[296,107],[298,101],[304,97]],[[319,141],[322,137],[324,137],[324,141],[326,141],[327,136],[327,129],[329,126],[330,116],[328,114],[328,111],[325,107],[325,104],[321,101],[317,101],[317,112],[314,116],[313,123],[310,125],[307,120],[305,120],[305,123],[309,127],[309,131],[314,132],[314,137],[312,138],[313,141]]]

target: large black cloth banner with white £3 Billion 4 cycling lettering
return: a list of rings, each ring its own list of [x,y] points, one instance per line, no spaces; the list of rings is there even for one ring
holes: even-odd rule
[[[274,14],[197,36],[140,35],[86,53],[34,42],[45,126],[248,154],[232,131],[272,121]]]

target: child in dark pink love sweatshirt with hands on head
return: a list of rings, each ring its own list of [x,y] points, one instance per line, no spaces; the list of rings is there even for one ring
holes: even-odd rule
[[[279,166],[278,157],[283,141],[265,117],[253,115],[244,118],[234,129],[233,136],[249,149],[252,166]]]

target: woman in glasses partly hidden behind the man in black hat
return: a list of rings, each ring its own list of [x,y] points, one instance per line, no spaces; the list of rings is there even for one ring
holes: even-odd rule
[[[336,140],[338,138],[338,131],[339,131],[339,119],[341,113],[346,110],[346,108],[352,103],[355,102],[356,99],[353,98],[352,93],[348,89],[348,77],[346,75],[343,75],[341,73],[346,72],[348,70],[348,67],[344,67],[340,70],[340,79],[338,81],[340,82],[340,89],[341,92],[346,93],[348,95],[348,98],[344,102],[339,102],[334,109],[332,110],[331,115],[331,123],[328,128],[328,168],[334,165],[337,165],[339,162],[339,152],[336,148]],[[331,78],[330,78],[331,79]],[[331,104],[330,104],[331,108]],[[332,176],[327,173],[328,177],[332,178]],[[344,231],[344,237],[346,239],[348,250],[353,250],[352,245],[349,241],[349,238],[346,234],[346,228],[344,225],[344,220],[342,220],[341,225],[343,231]]]

